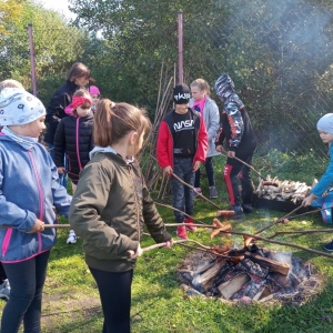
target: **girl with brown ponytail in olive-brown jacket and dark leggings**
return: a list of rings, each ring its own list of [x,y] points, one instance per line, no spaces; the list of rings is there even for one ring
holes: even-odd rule
[[[100,292],[103,333],[130,332],[131,284],[142,254],[143,225],[157,243],[172,246],[134,160],[149,129],[150,121],[138,108],[107,99],[98,103],[95,148],[70,209],[71,226],[83,239],[85,262]]]

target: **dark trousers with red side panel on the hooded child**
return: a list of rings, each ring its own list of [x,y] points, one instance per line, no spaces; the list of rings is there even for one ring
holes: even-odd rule
[[[254,151],[251,151],[250,153],[236,153],[235,157],[251,165],[253,153]],[[251,169],[235,159],[228,158],[223,173],[230,204],[251,204],[254,191],[251,179]],[[242,185],[242,192],[240,192],[239,188],[240,181]]]

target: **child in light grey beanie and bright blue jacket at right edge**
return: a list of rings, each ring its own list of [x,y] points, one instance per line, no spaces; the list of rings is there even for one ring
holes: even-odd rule
[[[333,205],[333,113],[327,113],[322,117],[316,129],[324,143],[329,143],[330,163],[329,167],[319,181],[319,183],[312,189],[309,196],[306,196],[302,205],[322,206],[322,218],[325,223],[332,223],[332,209]],[[327,209],[325,209],[327,208]],[[326,251],[333,251],[333,241],[324,245]]]

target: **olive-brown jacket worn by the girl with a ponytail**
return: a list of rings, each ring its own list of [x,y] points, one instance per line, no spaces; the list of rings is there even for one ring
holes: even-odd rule
[[[85,262],[108,272],[135,265],[128,251],[138,249],[143,225],[157,243],[170,241],[150,198],[138,163],[125,162],[112,148],[97,147],[80,174],[70,208],[70,223],[83,239]]]

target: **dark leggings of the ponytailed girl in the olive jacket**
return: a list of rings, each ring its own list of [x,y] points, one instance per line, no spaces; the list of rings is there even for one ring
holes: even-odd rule
[[[104,315],[102,333],[130,333],[133,270],[122,273],[89,270],[100,292]]]

